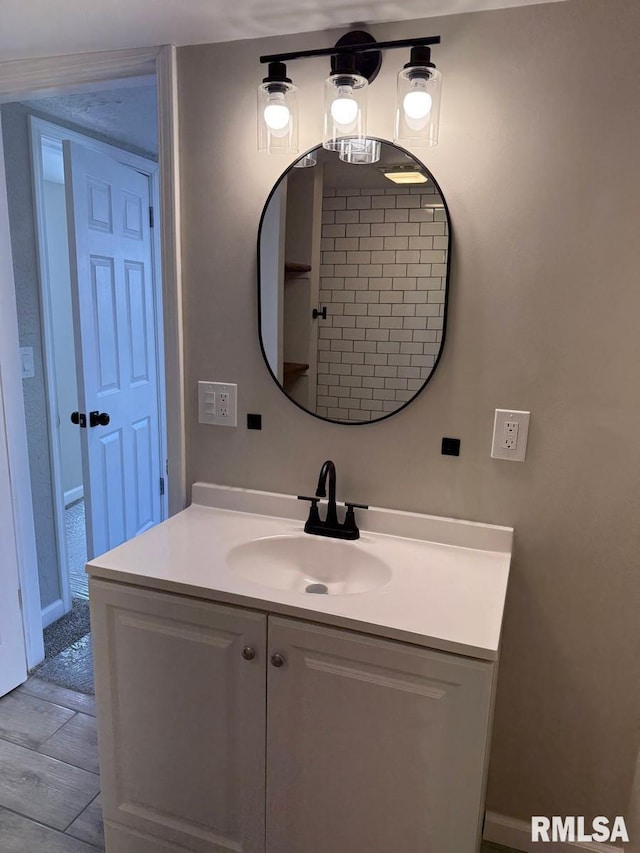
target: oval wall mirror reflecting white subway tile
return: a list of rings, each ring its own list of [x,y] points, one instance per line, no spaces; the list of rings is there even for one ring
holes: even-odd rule
[[[271,191],[258,235],[269,370],[298,406],[344,424],[389,417],[424,389],[447,311],[440,188],[407,151],[368,145],[352,162],[322,147],[303,155]]]

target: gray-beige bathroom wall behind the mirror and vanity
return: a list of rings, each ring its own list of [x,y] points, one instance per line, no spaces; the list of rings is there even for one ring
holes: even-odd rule
[[[254,246],[285,164],[255,148],[258,57],[339,33],[181,48],[189,477],[298,494],[331,457],[340,498],[513,525],[488,805],[615,816],[640,740],[640,4],[372,29],[443,37],[441,144],[423,157],[453,229],[441,365],[407,410],[363,427],[320,422],[275,387]],[[385,56],[372,135],[392,135],[405,61]],[[321,138],[328,63],[289,70],[304,150]],[[238,383],[238,429],[197,423],[198,379]],[[525,464],[490,458],[496,407],[531,409]],[[445,435],[460,458],[440,455]]]

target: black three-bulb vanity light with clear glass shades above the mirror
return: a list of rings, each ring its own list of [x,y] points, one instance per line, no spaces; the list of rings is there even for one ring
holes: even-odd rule
[[[398,74],[395,137],[402,145],[436,145],[442,75],[431,62],[430,46],[440,36],[377,42],[370,33],[352,30],[333,47],[261,56],[269,75],[258,88],[258,148],[268,153],[298,150],[296,87],[285,62],[330,56],[325,81],[322,145],[347,163],[376,163],[380,143],[367,137],[367,94],[382,65],[382,51],[411,48],[409,62]]]

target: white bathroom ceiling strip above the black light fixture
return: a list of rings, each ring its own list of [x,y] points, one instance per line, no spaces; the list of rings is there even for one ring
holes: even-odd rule
[[[563,0],[0,0],[0,61],[203,44]]]

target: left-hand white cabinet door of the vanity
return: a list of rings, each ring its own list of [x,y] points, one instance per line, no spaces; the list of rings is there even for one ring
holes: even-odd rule
[[[266,616],[99,580],[90,600],[109,853],[130,832],[264,853]]]

